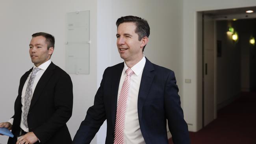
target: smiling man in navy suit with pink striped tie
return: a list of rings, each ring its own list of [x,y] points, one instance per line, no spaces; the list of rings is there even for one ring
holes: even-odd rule
[[[174,144],[189,144],[174,72],[143,55],[150,33],[147,21],[126,16],[116,25],[117,49],[124,63],[104,71],[94,105],[73,144],[89,144],[105,120],[106,144],[168,144],[167,120]]]

